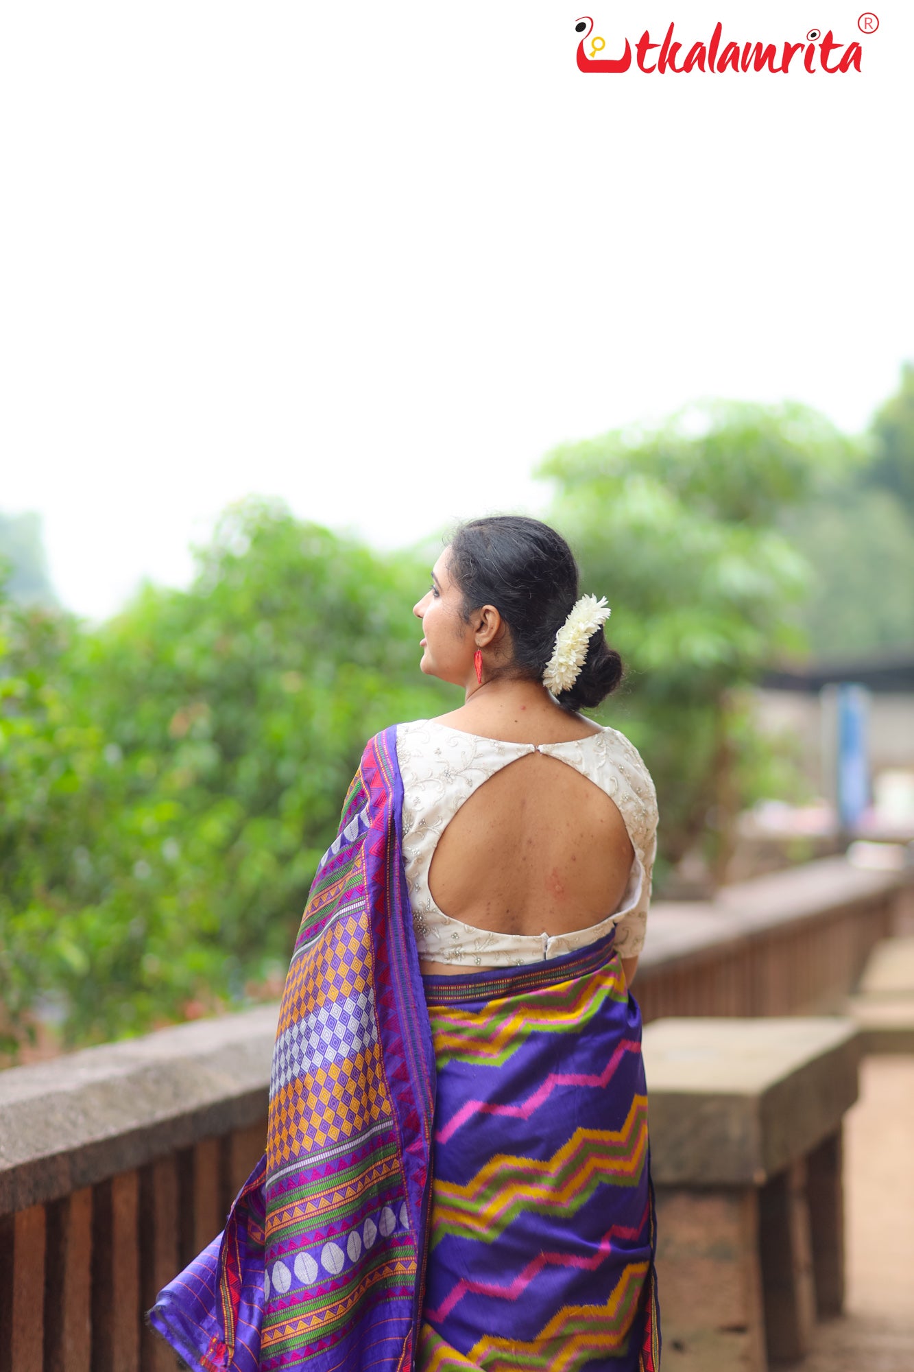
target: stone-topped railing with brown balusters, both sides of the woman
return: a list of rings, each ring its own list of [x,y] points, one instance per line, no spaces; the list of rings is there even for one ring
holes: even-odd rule
[[[660,1015],[837,1008],[900,875],[826,859],[659,904],[637,993]],[[276,1006],[0,1073],[0,1372],[173,1372],[144,1329],[263,1148]]]

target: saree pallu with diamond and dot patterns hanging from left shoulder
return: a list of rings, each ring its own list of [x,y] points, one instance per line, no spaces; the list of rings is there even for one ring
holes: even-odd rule
[[[401,856],[397,730],[318,863],[273,1050],[266,1152],[150,1324],[203,1372],[408,1372],[435,1061]]]

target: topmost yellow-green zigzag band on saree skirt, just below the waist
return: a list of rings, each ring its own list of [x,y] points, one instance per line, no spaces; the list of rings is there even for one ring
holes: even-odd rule
[[[506,996],[471,1013],[430,1004],[435,1059],[441,1070],[452,1058],[500,1067],[532,1033],[576,1033],[598,1014],[604,1000],[624,1002],[629,991],[618,958],[591,977],[575,977],[530,999]]]

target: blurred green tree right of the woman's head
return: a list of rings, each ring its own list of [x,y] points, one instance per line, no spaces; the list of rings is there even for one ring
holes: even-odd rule
[[[616,606],[611,638],[630,672],[605,718],[645,752],[666,863],[707,834],[723,870],[762,753],[740,687],[803,646],[793,619],[806,567],[778,519],[855,461],[799,405],[714,403],[656,431],[560,447],[541,468],[585,587]]]

